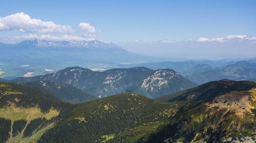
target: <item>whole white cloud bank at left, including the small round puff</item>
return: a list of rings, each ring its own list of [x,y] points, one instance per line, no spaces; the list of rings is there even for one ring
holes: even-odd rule
[[[56,24],[53,21],[43,21],[31,18],[23,12],[0,17],[0,31],[18,32],[22,35],[4,37],[12,40],[94,40],[96,29],[87,22],[80,22],[72,27],[71,25]],[[3,39],[3,37],[2,37]]]

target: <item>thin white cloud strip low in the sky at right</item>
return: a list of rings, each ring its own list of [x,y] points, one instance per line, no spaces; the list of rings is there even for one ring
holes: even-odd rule
[[[249,41],[256,41],[256,37],[249,37],[246,35],[228,35],[226,37],[221,38],[199,38],[197,42],[227,42],[231,40],[249,40]]]

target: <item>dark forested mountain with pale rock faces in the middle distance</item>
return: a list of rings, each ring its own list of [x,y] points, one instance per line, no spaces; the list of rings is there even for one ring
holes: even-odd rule
[[[52,74],[20,77],[13,82],[50,81],[71,84],[95,97],[119,93],[138,93],[151,98],[195,87],[197,84],[171,69],[151,70],[144,67],[110,69],[103,72],[68,67]]]

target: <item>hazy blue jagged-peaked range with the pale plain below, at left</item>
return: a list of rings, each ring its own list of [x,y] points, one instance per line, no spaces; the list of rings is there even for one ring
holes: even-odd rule
[[[99,40],[35,39],[17,44],[0,43],[0,53],[0,77],[19,77],[28,72],[40,75],[74,65],[105,70],[113,68],[115,64],[164,59],[129,52],[114,43]]]

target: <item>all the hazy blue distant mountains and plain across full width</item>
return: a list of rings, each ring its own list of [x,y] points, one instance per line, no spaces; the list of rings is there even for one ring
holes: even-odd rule
[[[132,67],[146,67],[153,70],[173,69],[197,84],[221,79],[252,80],[256,78],[255,58],[170,62],[168,58],[132,53],[114,43],[104,43],[99,40],[35,39],[17,44],[0,43],[0,52],[0,77],[5,79],[48,74],[74,65],[93,71]]]

